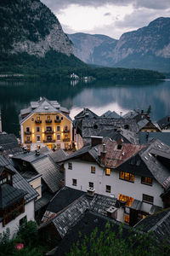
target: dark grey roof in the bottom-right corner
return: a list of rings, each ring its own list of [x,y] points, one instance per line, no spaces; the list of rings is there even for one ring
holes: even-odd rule
[[[153,232],[158,242],[170,242],[170,208],[156,212],[153,215],[143,218],[136,228],[141,228],[144,232]]]

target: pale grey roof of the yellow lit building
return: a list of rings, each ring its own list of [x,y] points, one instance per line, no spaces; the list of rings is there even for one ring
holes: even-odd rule
[[[28,113],[29,109],[31,111]],[[67,108],[60,107],[58,102],[50,102],[45,97],[43,97],[38,102],[31,102],[31,108],[25,108],[20,110],[20,115],[26,113],[28,113],[28,115],[26,115],[24,119],[20,119],[20,123],[30,117],[32,113],[62,113],[66,118],[71,120],[71,118],[67,114],[65,114],[70,113]]]

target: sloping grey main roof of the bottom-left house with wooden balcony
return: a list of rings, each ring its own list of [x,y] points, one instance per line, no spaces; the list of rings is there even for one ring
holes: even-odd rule
[[[26,203],[37,198],[37,191],[33,189],[31,185],[26,181],[26,179],[14,169],[14,166],[12,166],[12,161],[8,160],[3,155],[0,155],[0,166],[2,165],[15,173],[13,175],[13,187],[16,189],[22,189],[27,192],[27,194],[25,195]]]

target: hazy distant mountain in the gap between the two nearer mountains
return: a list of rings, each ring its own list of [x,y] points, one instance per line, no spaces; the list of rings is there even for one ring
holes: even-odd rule
[[[75,47],[75,55],[84,62],[108,65],[112,49],[116,47],[117,40],[104,35],[90,35],[86,33],[68,34]]]

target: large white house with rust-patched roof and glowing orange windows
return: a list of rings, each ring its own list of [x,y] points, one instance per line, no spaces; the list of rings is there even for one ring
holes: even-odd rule
[[[91,139],[91,145],[64,160],[65,186],[125,201],[124,221],[130,225],[168,206],[165,191],[170,187],[170,148],[166,144],[159,140],[144,146]]]

